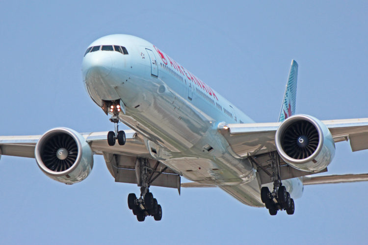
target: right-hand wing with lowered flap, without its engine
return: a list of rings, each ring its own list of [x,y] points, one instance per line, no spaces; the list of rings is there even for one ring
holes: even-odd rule
[[[368,118],[344,119],[322,121],[330,130],[334,142],[350,141],[353,151],[368,149]],[[245,124],[221,124],[218,130],[229,143],[233,154],[242,158],[248,158],[257,169],[261,183],[269,183],[272,177],[267,169],[269,166],[269,152],[276,151],[275,134],[281,123],[245,123]],[[306,172],[289,168],[289,165],[280,159],[281,179],[302,177],[314,174],[316,172]],[[324,169],[320,172],[326,172]],[[328,179],[334,183],[366,181],[367,178],[356,178],[356,176],[333,175]],[[323,176],[313,177],[318,181],[326,181]],[[320,179],[318,179],[320,178]],[[342,180],[344,179],[344,180]],[[347,181],[349,179],[349,181]],[[360,179],[360,180],[358,180]],[[362,180],[363,179],[363,180]],[[309,177],[303,179],[305,183],[310,184],[313,181]],[[332,183],[331,182],[331,183]],[[318,182],[319,183],[319,182]],[[330,183],[330,182],[325,182]]]

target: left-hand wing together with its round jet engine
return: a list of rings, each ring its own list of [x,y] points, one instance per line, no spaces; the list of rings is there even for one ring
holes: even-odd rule
[[[126,130],[125,135],[124,146],[109,146],[107,132],[79,134],[68,128],[54,128],[43,135],[0,136],[0,155],[36,158],[46,175],[73,184],[88,176],[93,167],[92,156],[99,154],[104,156],[116,182],[141,186],[141,169],[145,168],[150,173],[146,178],[150,185],[180,192],[180,175],[154,160],[144,139],[135,131]]]

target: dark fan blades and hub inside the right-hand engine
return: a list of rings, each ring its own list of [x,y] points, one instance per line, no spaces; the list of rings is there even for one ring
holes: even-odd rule
[[[315,126],[308,121],[298,121],[289,125],[282,137],[282,147],[289,157],[305,159],[318,146],[319,136]]]

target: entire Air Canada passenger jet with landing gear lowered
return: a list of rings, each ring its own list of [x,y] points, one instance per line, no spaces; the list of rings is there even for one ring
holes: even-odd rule
[[[93,155],[103,155],[115,182],[140,187],[128,195],[138,221],[162,219],[149,188],[218,187],[270,215],[292,215],[305,185],[367,181],[368,174],[327,172],[335,143],[368,149],[368,118],[320,121],[296,114],[298,64],[291,61],[277,122],[255,123],[161,49],[114,34],[92,42],[82,61],[83,83],[114,130],[79,133],[66,127],[42,135],[0,136],[0,156],[35,158],[48,177],[84,180]],[[124,123],[130,130],[119,130]],[[192,182],[181,183],[181,177]]]

